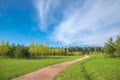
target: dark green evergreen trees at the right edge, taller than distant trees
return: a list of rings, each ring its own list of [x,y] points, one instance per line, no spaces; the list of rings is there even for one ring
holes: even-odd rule
[[[110,38],[104,45],[104,52],[107,57],[120,57],[120,36],[115,41]]]

